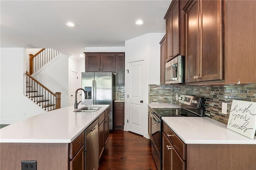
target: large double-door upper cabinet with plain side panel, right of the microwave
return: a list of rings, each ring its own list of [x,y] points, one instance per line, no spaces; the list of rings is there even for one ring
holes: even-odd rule
[[[186,83],[256,83],[256,1],[189,0]]]

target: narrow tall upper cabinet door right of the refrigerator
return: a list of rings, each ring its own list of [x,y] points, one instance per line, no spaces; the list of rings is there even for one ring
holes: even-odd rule
[[[116,54],[116,85],[124,85],[124,53]]]

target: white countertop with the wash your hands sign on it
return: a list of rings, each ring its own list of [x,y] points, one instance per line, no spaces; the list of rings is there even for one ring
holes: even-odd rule
[[[256,144],[254,139],[234,132],[208,117],[162,117],[186,144]]]

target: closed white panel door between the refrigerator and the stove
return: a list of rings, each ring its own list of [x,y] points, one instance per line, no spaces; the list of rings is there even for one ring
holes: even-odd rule
[[[144,135],[146,131],[145,61],[129,63],[128,131]]]

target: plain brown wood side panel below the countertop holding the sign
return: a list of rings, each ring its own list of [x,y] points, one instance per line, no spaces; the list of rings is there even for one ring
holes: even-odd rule
[[[256,144],[187,144],[187,170],[256,170]]]

